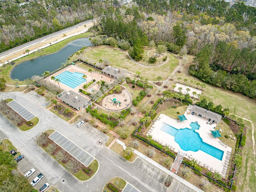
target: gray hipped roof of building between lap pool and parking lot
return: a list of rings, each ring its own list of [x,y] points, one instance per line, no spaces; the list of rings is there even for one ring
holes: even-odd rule
[[[76,109],[78,109],[82,104],[88,101],[88,99],[71,90],[68,91],[66,94],[62,95],[60,99]]]

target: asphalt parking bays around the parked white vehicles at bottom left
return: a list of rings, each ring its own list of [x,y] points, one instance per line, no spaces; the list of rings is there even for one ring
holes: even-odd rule
[[[38,168],[36,168],[36,166],[34,166],[26,157],[24,157],[24,159],[20,160],[18,162],[18,166],[17,166],[18,170],[20,170],[20,172],[24,175],[26,172],[28,172],[29,170],[31,170],[32,168],[34,168],[36,171],[29,177],[29,181],[32,182],[32,180],[38,176],[38,174],[42,173],[44,175],[44,172],[40,172],[38,170]],[[46,176],[44,175],[44,177],[38,182],[38,184],[35,185],[36,189],[40,189],[45,183],[49,183],[50,186],[52,185],[48,179],[46,178]]]

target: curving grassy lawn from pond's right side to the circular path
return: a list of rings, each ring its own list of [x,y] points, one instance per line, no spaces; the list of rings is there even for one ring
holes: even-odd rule
[[[98,48],[91,48],[87,50],[84,54],[82,54],[80,58],[82,58],[83,60],[97,63],[99,63],[100,59],[107,59],[110,61],[110,66],[128,71],[132,73],[133,76],[135,76],[135,72],[136,70],[138,70],[142,72],[140,76],[148,78],[149,80],[156,81],[159,74],[161,74],[163,80],[167,79],[170,73],[172,73],[172,71],[174,70],[174,68],[178,66],[178,59],[172,54],[167,53],[167,55],[170,58],[169,62],[162,66],[156,67],[138,65],[132,62],[124,51],[119,49],[114,50],[110,46],[98,46]],[[78,56],[75,55],[73,56],[73,58],[78,59]]]

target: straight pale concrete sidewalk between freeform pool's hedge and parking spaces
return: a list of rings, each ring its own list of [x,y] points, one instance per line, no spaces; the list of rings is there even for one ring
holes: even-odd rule
[[[120,141],[119,139],[116,140],[116,142],[120,145],[123,146],[124,149],[126,149],[126,144],[122,141]],[[203,190],[199,189],[198,187],[192,185],[190,182],[184,180],[183,178],[181,178],[180,176],[176,175],[175,173],[171,172],[170,170],[166,169],[164,166],[158,164],[157,162],[155,162],[154,160],[150,159],[149,157],[147,157],[146,155],[142,154],[141,152],[137,151],[134,149],[134,153],[137,154],[138,156],[140,156],[142,159],[146,160],[147,162],[150,162],[152,165],[156,166],[158,169],[162,170],[163,172],[165,172],[166,174],[172,176],[174,179],[176,179],[177,181],[185,184],[186,186],[188,186],[189,188],[191,188],[192,190],[195,190],[196,192],[204,192]]]

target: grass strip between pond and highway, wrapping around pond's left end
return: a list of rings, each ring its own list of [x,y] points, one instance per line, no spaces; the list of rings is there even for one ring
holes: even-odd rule
[[[53,45],[51,45],[49,47],[46,47],[46,48],[44,48],[44,49],[42,49],[40,51],[31,53],[31,54],[29,54],[27,56],[24,56],[24,57],[22,57],[20,59],[15,60],[16,64],[14,66],[16,66],[17,64],[19,64],[21,62],[24,62],[24,61],[27,61],[27,60],[31,60],[31,59],[37,58],[39,56],[43,56],[43,55],[48,55],[48,54],[54,53],[54,52],[60,50],[61,48],[63,48],[69,42],[71,42],[73,40],[76,40],[76,39],[79,39],[79,38],[85,38],[85,37],[88,37],[90,35],[92,35],[92,33],[86,32],[84,34],[76,35],[76,36],[70,37],[68,39],[65,39],[65,40],[63,40],[63,41],[61,41],[59,43],[53,44]],[[14,80],[12,80],[10,78],[10,76],[9,76],[10,71],[12,70],[12,68],[14,66],[12,66],[11,64],[7,64],[5,66],[1,66],[0,67],[0,78],[4,78],[6,80],[7,84],[11,84],[11,85],[16,84],[16,82],[14,82]],[[20,84],[22,84],[22,82],[20,82]]]

